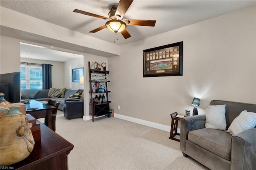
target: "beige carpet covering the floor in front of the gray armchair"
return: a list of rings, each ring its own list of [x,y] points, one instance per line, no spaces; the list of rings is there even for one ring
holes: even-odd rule
[[[169,132],[118,118],[67,120],[58,111],[56,133],[74,144],[69,170],[208,170],[185,158]]]

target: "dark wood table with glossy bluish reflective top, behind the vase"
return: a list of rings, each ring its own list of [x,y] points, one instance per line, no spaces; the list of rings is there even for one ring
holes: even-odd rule
[[[34,110],[29,110],[31,108],[36,108]],[[26,112],[36,119],[46,118],[48,128],[52,129],[52,110],[54,106],[38,102],[36,100],[30,100],[26,103]]]

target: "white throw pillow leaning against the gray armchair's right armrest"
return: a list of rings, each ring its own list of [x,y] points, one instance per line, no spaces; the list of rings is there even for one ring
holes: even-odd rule
[[[230,124],[227,132],[230,134],[238,134],[256,126],[256,113],[242,111]]]

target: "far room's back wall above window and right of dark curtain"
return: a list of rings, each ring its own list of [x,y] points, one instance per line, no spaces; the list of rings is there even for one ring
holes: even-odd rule
[[[48,61],[48,60],[35,60],[30,58],[20,58],[21,62],[30,62],[30,63],[36,63],[36,64],[52,64],[52,87],[53,88],[64,88],[64,72],[63,62],[54,62],[54,61]]]

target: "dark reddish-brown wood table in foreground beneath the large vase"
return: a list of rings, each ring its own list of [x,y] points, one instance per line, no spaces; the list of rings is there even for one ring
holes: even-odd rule
[[[31,154],[8,166],[14,170],[68,170],[68,154],[74,145],[39,122],[41,141],[35,142]],[[7,167],[7,166],[6,166]]]

